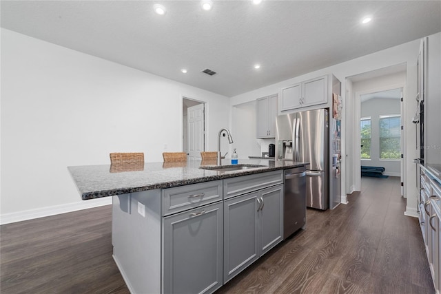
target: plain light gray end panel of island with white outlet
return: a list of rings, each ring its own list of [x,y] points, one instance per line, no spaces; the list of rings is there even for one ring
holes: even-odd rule
[[[112,198],[113,257],[131,293],[161,293],[161,190]]]

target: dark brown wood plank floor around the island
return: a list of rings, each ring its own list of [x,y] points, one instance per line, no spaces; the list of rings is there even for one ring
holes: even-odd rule
[[[434,293],[416,218],[398,178],[362,178],[332,211],[220,293]],[[112,259],[111,210],[99,207],[0,227],[1,293],[128,293]]]

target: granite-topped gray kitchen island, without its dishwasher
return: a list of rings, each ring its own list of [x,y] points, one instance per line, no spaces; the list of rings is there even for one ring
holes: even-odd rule
[[[132,293],[213,293],[283,240],[283,169],[305,165],[239,163],[68,169],[84,200],[112,196],[114,260]]]

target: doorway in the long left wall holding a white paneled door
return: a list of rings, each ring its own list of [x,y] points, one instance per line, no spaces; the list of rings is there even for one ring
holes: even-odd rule
[[[201,159],[205,151],[205,103],[183,97],[182,149],[188,159]]]

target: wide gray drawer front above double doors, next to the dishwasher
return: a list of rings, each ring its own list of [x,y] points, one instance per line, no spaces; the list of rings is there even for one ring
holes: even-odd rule
[[[223,180],[224,199],[283,183],[283,170]]]

